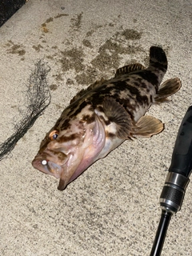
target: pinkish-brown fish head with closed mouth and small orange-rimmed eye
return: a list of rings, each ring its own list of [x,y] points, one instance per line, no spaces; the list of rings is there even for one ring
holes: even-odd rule
[[[32,165],[45,174],[59,178],[58,190],[77,178],[97,160],[105,145],[105,130],[96,114],[74,118],[64,130],[54,126],[42,140]]]

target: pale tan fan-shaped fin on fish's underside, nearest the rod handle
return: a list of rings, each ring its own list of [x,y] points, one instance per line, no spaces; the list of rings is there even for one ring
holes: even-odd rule
[[[160,120],[146,115],[138,120],[132,134],[137,137],[151,137],[160,133],[163,128],[164,126]]]

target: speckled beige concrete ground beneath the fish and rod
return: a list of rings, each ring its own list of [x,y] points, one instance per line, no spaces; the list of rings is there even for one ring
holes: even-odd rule
[[[192,2],[30,0],[0,28],[0,142],[26,110],[34,63],[50,66],[51,102],[1,166],[0,254],[150,255],[161,210],[158,198],[178,127],[191,105]],[[149,114],[165,123],[152,138],[126,141],[64,191],[34,170],[42,138],[70,99],[130,62],[147,65],[150,46],[166,50],[167,78],[182,89]],[[192,254],[192,186],[171,219],[164,256]]]

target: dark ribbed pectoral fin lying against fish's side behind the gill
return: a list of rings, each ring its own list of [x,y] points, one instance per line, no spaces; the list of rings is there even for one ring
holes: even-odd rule
[[[132,121],[125,108],[116,102],[114,98],[109,97],[104,98],[102,106],[106,117],[110,122],[116,124],[118,138],[131,138]]]

